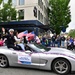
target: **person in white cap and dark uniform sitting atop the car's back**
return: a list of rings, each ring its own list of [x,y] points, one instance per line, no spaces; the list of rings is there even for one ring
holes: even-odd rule
[[[13,48],[14,50],[17,50],[17,47],[15,46],[15,39],[14,39],[14,29],[9,30],[9,34],[5,36],[7,38],[7,48]]]

